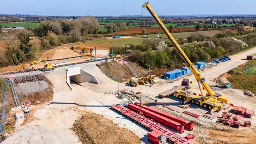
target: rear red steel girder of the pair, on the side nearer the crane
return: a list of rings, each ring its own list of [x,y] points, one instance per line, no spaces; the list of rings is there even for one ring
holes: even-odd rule
[[[136,106],[140,106],[139,103],[134,103]],[[145,106],[143,104],[141,104],[141,107],[146,109],[146,110],[149,110],[150,112],[154,112],[155,114],[159,114],[160,116],[164,116],[165,118],[168,118],[170,120],[173,120],[174,122],[178,122],[180,124],[184,124],[184,127],[185,128],[188,128],[188,130],[193,130],[193,123],[194,122],[189,122],[187,120],[184,120],[182,118],[179,118],[177,116],[172,116],[170,114],[166,114],[165,112],[162,112],[160,110],[156,110],[154,108],[150,108],[149,106]]]

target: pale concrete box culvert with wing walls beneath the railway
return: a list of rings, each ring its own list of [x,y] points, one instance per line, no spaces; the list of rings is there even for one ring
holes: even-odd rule
[[[67,69],[66,82],[70,87],[70,89],[73,90],[70,84],[70,80],[73,80],[74,82],[77,82],[77,83],[94,82],[96,84],[100,84],[98,79],[93,74],[90,74],[89,72],[82,70],[81,67]]]

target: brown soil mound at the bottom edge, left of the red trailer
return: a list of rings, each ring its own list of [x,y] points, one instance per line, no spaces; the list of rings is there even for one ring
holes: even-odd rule
[[[140,144],[140,138],[103,116],[86,113],[73,124],[83,144]]]

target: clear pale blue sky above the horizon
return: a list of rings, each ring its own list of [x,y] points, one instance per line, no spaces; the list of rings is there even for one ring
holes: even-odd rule
[[[146,0],[8,0],[1,6],[0,14],[141,15],[144,2]],[[149,0],[149,3],[158,15],[256,14],[256,0]],[[145,15],[150,15],[146,9]]]

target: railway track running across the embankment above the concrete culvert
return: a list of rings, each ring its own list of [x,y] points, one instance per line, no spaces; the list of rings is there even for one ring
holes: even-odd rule
[[[113,58],[107,58],[107,60],[111,60]],[[70,64],[62,64],[62,65],[58,65],[58,66],[53,66],[54,68],[59,68],[59,67],[63,67],[63,66],[71,66],[71,65],[75,65],[75,64],[85,64],[85,63],[90,63],[90,62],[98,62],[98,61],[104,61],[106,59],[98,59],[98,60],[86,60],[83,62],[74,62],[74,63],[70,63]],[[5,73],[1,73],[0,75],[4,76],[4,75],[8,75],[8,74],[20,74],[20,73],[26,73],[26,72],[32,72],[32,71],[38,71],[38,70],[42,70],[43,68],[36,68],[34,70],[30,69],[30,70],[20,70],[20,71],[15,71],[15,72],[5,72]]]

